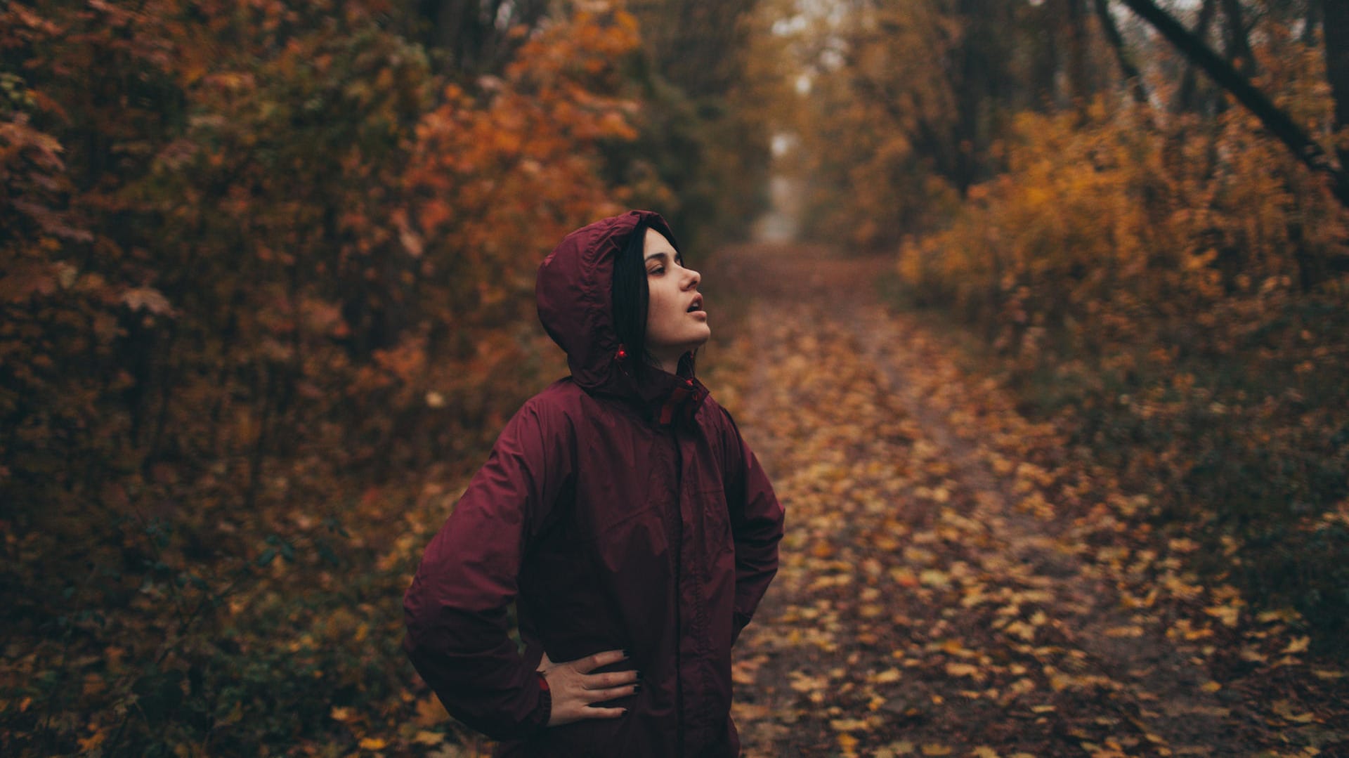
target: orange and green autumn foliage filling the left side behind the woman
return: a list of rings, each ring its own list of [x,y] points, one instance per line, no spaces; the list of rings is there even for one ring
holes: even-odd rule
[[[444,722],[432,482],[563,372],[534,267],[625,201],[637,23],[587,8],[473,78],[378,0],[0,11],[0,753]]]

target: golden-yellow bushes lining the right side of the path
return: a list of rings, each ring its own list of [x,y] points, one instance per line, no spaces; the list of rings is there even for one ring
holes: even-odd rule
[[[1260,28],[1259,84],[1333,135],[1319,49]],[[1342,651],[1349,214],[1251,112],[1210,97],[1201,113],[1109,90],[1004,109],[994,175],[902,244],[902,299],[974,326],[1028,409],[1066,419],[1071,444],[1153,499],[1151,519],[1210,548],[1195,565],[1296,607]]]

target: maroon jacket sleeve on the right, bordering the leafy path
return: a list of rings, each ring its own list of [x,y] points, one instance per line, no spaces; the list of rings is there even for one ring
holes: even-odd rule
[[[726,503],[735,541],[735,608],[731,643],[750,623],[754,610],[777,575],[777,544],[782,540],[782,506],[764,467],[745,442],[730,411],[726,415]]]

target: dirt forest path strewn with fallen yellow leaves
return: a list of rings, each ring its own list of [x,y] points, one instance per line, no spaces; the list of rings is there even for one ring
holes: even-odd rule
[[[1306,638],[1238,623],[1182,571],[1193,542],[1151,545],[1144,499],[878,302],[886,266],[749,245],[708,271],[749,297],[720,383],[788,513],[737,645],[746,755],[1349,747],[1296,699]]]

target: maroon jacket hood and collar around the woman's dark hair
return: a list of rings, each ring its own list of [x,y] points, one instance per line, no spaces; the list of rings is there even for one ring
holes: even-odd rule
[[[567,235],[544,259],[534,298],[544,329],[567,352],[572,380],[591,394],[631,399],[654,421],[672,424],[692,418],[707,397],[692,361],[681,359],[677,374],[648,371],[648,380],[638,383],[630,366],[641,357],[619,352],[614,329],[614,260],[642,221],[679,248],[660,213],[629,210],[602,218]]]

